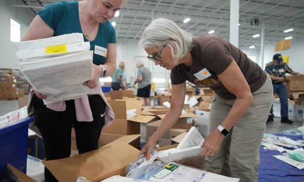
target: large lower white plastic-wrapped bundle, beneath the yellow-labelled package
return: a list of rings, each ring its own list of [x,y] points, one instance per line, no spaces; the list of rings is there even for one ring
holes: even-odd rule
[[[81,98],[93,90],[82,83],[92,78],[93,61],[90,51],[65,56],[27,61],[19,70],[32,87],[47,95],[44,104]]]

